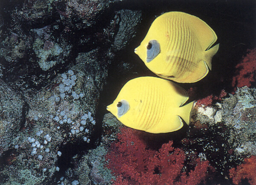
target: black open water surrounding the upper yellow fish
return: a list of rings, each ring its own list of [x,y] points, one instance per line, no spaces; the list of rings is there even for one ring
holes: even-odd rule
[[[126,80],[119,78],[121,84],[125,84],[135,76],[154,76],[134,53],[134,49],[140,45],[154,19],[164,12],[180,11],[195,15],[204,20],[218,36],[216,43],[220,45],[217,54],[212,59],[212,71],[209,71],[209,74],[197,83],[180,84],[185,88],[200,87],[201,97],[198,98],[212,93],[219,94],[222,89],[227,92],[231,91],[236,64],[247,53],[247,49],[256,47],[256,1],[254,0],[138,0],[129,1],[118,8],[143,11],[143,20],[137,36],[128,48],[118,53],[116,64],[113,64],[111,81],[118,80],[115,78],[115,73],[117,73],[115,69],[120,61],[135,66],[131,76],[125,77]]]

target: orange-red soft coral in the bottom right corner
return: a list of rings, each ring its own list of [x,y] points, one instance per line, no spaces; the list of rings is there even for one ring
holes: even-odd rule
[[[256,184],[256,156],[250,156],[244,159],[244,164],[238,165],[230,169],[230,178],[233,178],[233,183],[238,185],[242,179],[248,179],[251,185]]]

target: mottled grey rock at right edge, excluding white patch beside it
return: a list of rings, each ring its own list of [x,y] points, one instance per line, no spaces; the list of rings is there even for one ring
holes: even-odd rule
[[[227,101],[236,100],[235,106],[229,108],[229,113],[223,116],[224,124],[230,127],[230,145],[238,156],[256,155],[256,89],[241,87]]]

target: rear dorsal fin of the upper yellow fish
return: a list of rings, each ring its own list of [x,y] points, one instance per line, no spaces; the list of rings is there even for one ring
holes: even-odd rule
[[[195,35],[197,36],[198,41],[202,46],[202,49],[204,51],[209,49],[212,46],[212,44],[216,42],[217,35],[211,29],[211,27],[207,25],[207,23],[205,23],[198,17],[190,15],[189,19],[189,23],[192,26],[192,28],[194,28]]]

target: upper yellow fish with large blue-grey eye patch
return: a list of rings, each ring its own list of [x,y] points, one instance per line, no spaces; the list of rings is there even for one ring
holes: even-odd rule
[[[217,36],[190,14],[167,12],[157,17],[134,52],[161,78],[192,83],[204,78],[212,67]]]

